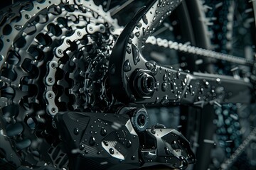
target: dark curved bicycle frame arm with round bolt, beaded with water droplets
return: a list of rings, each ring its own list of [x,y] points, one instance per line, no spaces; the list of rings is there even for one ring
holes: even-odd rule
[[[233,77],[182,72],[148,62],[146,39],[181,1],[151,1],[124,28],[110,56],[110,86],[124,103],[250,103],[252,85]],[[167,44],[168,45],[168,44]]]

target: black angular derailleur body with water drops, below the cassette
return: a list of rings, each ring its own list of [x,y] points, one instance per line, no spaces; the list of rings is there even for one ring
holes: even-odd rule
[[[142,115],[141,110],[135,110],[136,115]],[[185,169],[196,162],[180,132],[168,128],[139,132],[132,118],[114,113],[57,113],[55,125],[67,147],[70,169],[138,169],[156,164]]]

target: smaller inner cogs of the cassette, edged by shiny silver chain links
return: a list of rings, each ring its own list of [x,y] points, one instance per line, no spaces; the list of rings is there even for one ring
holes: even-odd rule
[[[92,16],[86,16],[86,18],[91,18],[90,24],[87,24],[85,28],[75,28],[74,33],[67,36],[63,43],[56,47],[53,60],[48,63],[46,99],[49,103],[48,113],[51,115],[58,113],[58,107],[54,101],[67,104],[70,101],[70,97],[65,94],[61,94],[56,100],[53,92],[55,81],[58,86],[64,84],[64,88],[69,89],[68,94],[75,98],[75,102],[72,104],[73,111],[85,111],[89,108],[90,111],[102,112],[105,111],[104,108],[110,108],[113,103],[114,97],[107,97],[105,86],[108,57],[115,39],[111,34],[114,32],[114,28],[107,31],[104,21],[96,20]],[[82,44],[82,41],[86,43]],[[62,62],[63,57],[66,57],[65,60],[68,62]],[[68,86],[65,76],[55,80],[55,75],[60,74],[58,69],[63,70],[65,75],[68,75],[68,79],[73,80],[73,85]],[[102,104],[103,102],[105,102],[105,106]]]

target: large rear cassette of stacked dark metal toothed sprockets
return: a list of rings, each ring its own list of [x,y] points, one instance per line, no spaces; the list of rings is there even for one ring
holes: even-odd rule
[[[55,123],[51,120],[58,112],[56,105],[65,101],[67,96],[71,98],[68,98],[68,101],[72,101],[73,96],[83,94],[85,98],[82,101],[75,99],[69,109],[91,107],[97,112],[102,111],[100,108],[109,108],[113,98],[111,96],[111,100],[108,100],[107,92],[103,88],[107,82],[106,72],[102,73],[101,79],[97,79],[99,71],[96,67],[99,64],[95,62],[100,61],[102,69],[107,70],[107,57],[120,27],[117,20],[111,18],[110,12],[103,11],[102,6],[95,5],[92,0],[33,1],[33,3],[15,4],[7,11],[2,13],[0,18],[1,33],[4,34],[0,39],[2,72],[0,106],[4,114],[1,129],[6,128],[6,132],[3,131],[4,134],[0,135],[1,143],[5,148],[0,149],[4,151],[4,157],[8,162],[14,162],[14,166],[28,164],[36,167],[48,162],[49,165],[63,168],[68,164],[67,156],[58,149],[60,142],[58,135],[51,136],[56,131]],[[105,45],[100,46],[104,43]],[[78,50],[72,45],[78,47]],[[87,52],[88,45],[93,49],[91,53]],[[63,50],[64,57],[60,56],[60,49]],[[86,56],[86,52],[90,53],[89,57]],[[90,61],[87,62],[87,59]],[[93,67],[88,67],[90,65]],[[70,72],[74,66],[79,66],[82,72],[78,72],[78,68]],[[60,77],[61,72],[67,72],[68,77]],[[79,77],[80,74],[86,75]],[[55,79],[56,77],[59,78]],[[72,79],[78,77],[80,88],[76,89],[75,80]],[[92,82],[88,83],[89,79]],[[87,85],[95,86],[95,84],[100,84],[102,88],[99,95],[100,99],[105,100],[102,106],[99,98],[97,101],[90,99],[96,98],[93,95],[99,93],[86,96],[90,94],[87,94]],[[68,89],[68,93],[61,91],[63,89],[60,89],[60,86],[63,86],[64,90]],[[92,92],[95,92],[95,89]],[[91,105],[82,107],[82,104],[87,102]],[[49,117],[45,112],[52,116]],[[53,153],[50,152],[51,149],[54,150]],[[56,159],[54,156],[56,154],[62,155],[62,159]],[[38,155],[43,155],[44,159]],[[22,157],[22,160],[18,160],[18,157]]]

